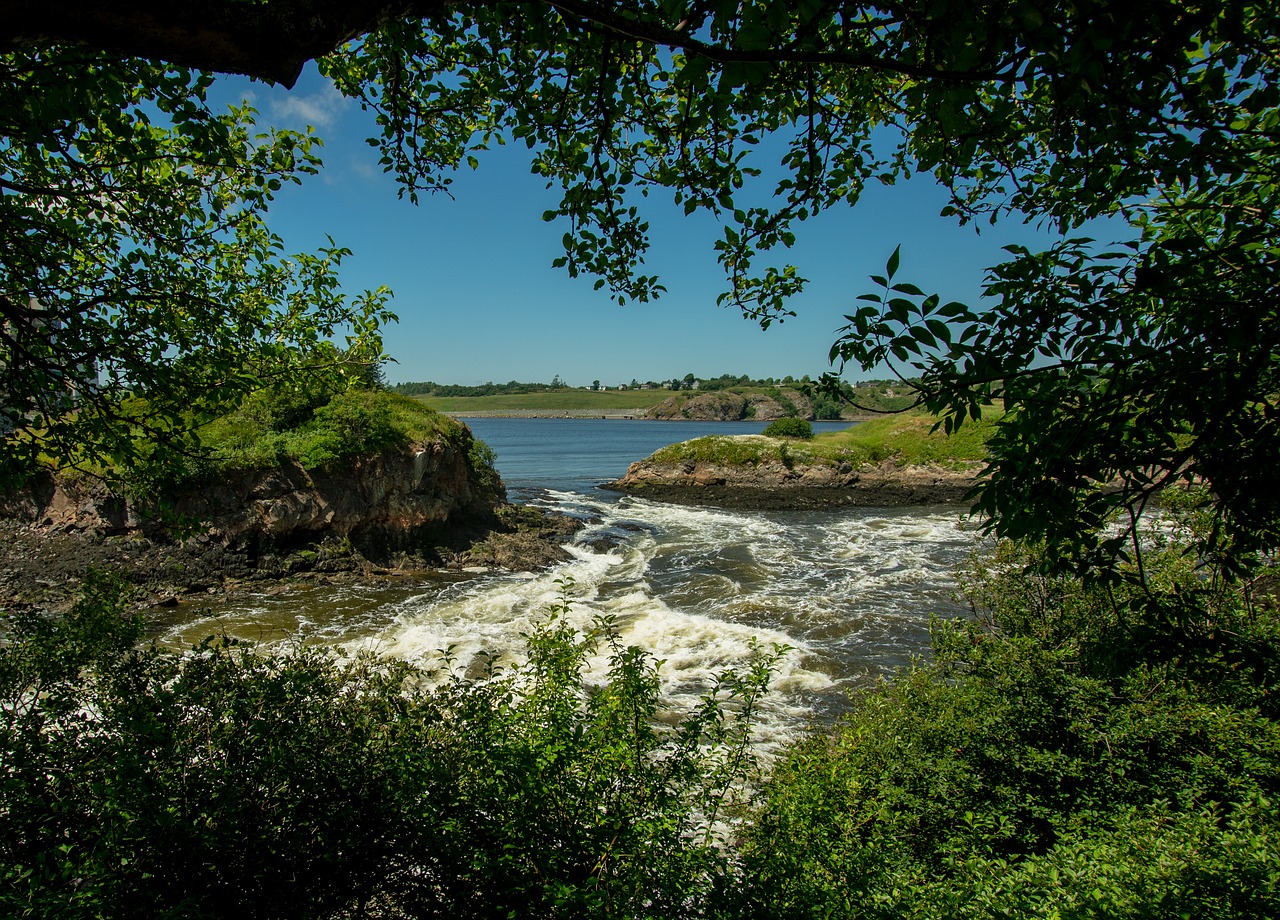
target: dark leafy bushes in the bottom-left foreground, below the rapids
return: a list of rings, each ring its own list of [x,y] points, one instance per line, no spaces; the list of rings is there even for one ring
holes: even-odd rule
[[[138,647],[110,583],[0,647],[6,916],[696,915],[771,659],[659,727],[570,595],[480,679],[316,647]],[[608,678],[589,683],[589,659]]]

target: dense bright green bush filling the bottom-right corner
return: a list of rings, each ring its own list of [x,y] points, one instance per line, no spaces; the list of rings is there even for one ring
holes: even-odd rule
[[[979,621],[774,772],[739,911],[1275,915],[1274,607],[1167,549],[1146,591],[1028,575],[1042,548],[980,562]]]

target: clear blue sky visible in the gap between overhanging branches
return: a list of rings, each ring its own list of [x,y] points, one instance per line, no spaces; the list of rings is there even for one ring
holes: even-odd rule
[[[716,306],[724,278],[712,250],[714,225],[650,196],[654,246],[646,274],[658,274],[668,293],[618,306],[607,290],[593,290],[593,278],[571,279],[552,267],[567,226],[541,220],[558,196],[530,174],[524,145],[481,155],[476,171],[457,174],[452,198],[424,196],[415,206],[397,197],[394,180],[364,142],[374,133],[371,116],[314,72],[292,91],[224,78],[221,93],[247,96],[264,123],[311,124],[324,138],[323,173],[282,191],[269,224],[289,251],[323,246],[326,234],[352,250],[342,273],[352,293],[392,288],[399,316],[385,333],[398,362],[388,367],[393,383],[559,375],[577,386],[686,374],[817,376],[828,370],[827,351],[844,313],[873,288],[868,275],[883,270],[896,244],[902,244],[901,279],[943,299],[973,302],[1000,247],[1033,235],[1014,224],[979,235],[938,218],[943,196],[928,178],[868,187],[856,207],[796,228],[796,246],[785,258],[810,284],[792,303],[795,317],[762,330]]]

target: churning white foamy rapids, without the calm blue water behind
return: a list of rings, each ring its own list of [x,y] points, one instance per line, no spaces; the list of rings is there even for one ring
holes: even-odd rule
[[[486,656],[502,667],[521,662],[525,636],[567,591],[575,628],[612,618],[625,645],[663,662],[658,677],[673,713],[724,669],[787,646],[760,711],[768,749],[801,731],[823,695],[920,653],[929,614],[950,603],[951,568],[977,543],[955,514],[906,509],[788,516],[576,493],[552,493],[545,504],[594,518],[566,546],[571,559],[548,572],[477,573],[399,595],[333,589],[326,603],[349,619],[282,614],[283,604],[307,603],[307,592],[255,600],[230,617],[239,631],[270,612],[273,622],[292,619],[326,641],[371,645],[428,668],[447,651],[466,672]],[[603,679],[607,668],[602,654],[589,678]]]

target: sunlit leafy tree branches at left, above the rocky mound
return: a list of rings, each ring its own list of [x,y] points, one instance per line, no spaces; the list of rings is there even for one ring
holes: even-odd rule
[[[348,298],[346,250],[285,258],[264,221],[316,139],[215,111],[210,83],[72,47],[0,59],[0,486],[180,463],[192,425],[324,370],[344,333],[380,360],[388,292]]]

